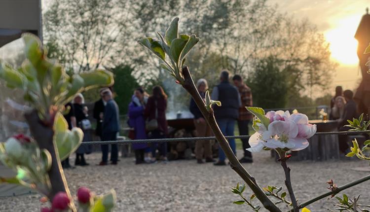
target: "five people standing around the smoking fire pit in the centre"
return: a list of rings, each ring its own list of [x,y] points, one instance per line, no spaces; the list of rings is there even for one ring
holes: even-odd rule
[[[234,135],[235,122],[238,122],[240,135],[248,135],[248,123],[253,118],[245,106],[252,106],[251,89],[243,83],[240,75],[234,75],[233,84],[229,80],[229,72],[222,71],[220,83],[213,88],[212,99],[221,101],[222,106],[215,107],[215,117],[222,133],[225,136]],[[199,79],[197,89],[205,101],[205,92],[208,83],[205,79]],[[131,139],[163,139],[167,136],[166,121],[167,96],[160,86],[155,86],[152,95],[149,96],[143,88],[135,90],[132,101],[129,104],[129,126],[133,129],[129,137]],[[194,100],[191,99],[190,112],[194,115],[194,126],[198,137],[212,136],[211,129],[207,125],[202,113]],[[243,163],[252,163],[252,154],[246,149],[248,140],[243,139],[244,157],[240,159]],[[235,140],[230,139],[229,144],[236,153]],[[153,163],[156,159],[167,161],[167,144],[163,143],[135,143],[132,145],[135,151],[136,164]],[[210,140],[196,141],[195,156],[197,163],[216,162],[213,159]],[[214,165],[226,165],[225,154],[219,149],[219,160]]]

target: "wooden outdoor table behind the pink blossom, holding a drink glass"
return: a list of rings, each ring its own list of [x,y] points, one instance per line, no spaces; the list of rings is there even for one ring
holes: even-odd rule
[[[316,124],[317,132],[336,132],[338,123],[333,120],[310,120],[310,124]],[[292,160],[325,161],[339,159],[338,135],[314,135],[308,139],[309,146],[300,151],[292,151]]]

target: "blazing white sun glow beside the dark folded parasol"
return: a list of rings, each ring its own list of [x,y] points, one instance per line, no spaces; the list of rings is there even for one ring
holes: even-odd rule
[[[354,38],[361,16],[349,16],[335,20],[331,30],[324,32],[332,58],[342,65],[357,65],[357,40]]]

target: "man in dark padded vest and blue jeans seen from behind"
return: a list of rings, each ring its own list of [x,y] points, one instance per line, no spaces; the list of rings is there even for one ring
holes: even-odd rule
[[[222,71],[220,84],[212,91],[212,100],[220,101],[222,106],[215,106],[215,117],[221,132],[224,136],[234,136],[235,120],[239,117],[239,107],[241,106],[238,90],[229,82],[229,72]],[[236,155],[235,139],[228,140],[229,145]],[[225,153],[219,148],[219,161],[215,166],[223,166],[225,163]]]

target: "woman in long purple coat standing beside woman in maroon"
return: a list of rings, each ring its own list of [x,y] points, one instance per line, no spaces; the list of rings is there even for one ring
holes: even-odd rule
[[[132,101],[128,106],[129,126],[135,130],[135,139],[147,139],[145,128],[144,110],[148,101],[148,95],[142,88],[135,90]],[[132,147],[135,151],[136,164],[152,162],[150,148],[147,143],[134,143]]]

